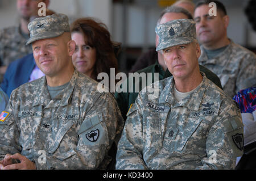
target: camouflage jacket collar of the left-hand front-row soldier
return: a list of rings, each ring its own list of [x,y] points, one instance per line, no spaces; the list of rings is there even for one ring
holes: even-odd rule
[[[55,99],[51,99],[51,96],[49,95],[49,92],[47,89],[46,76],[42,77],[38,85],[38,90],[36,90],[35,92],[35,95],[37,96],[33,106],[43,105],[43,106],[46,106],[46,108],[67,106],[71,102],[77,77],[78,77],[78,72],[75,69],[72,75],[72,78],[69,81],[68,86],[65,87],[65,89],[62,90],[60,94],[56,96]]]

